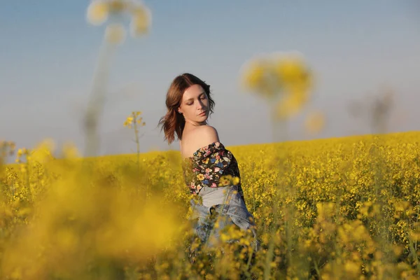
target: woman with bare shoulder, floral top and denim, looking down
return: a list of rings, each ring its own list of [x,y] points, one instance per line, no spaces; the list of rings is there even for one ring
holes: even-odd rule
[[[255,223],[246,209],[237,160],[223,146],[216,129],[207,124],[214,109],[210,86],[193,74],[183,73],[172,81],[166,105],[167,114],[160,125],[169,144],[175,134],[179,139],[184,179],[198,199],[190,203],[201,244],[215,246],[221,231],[234,225],[252,233],[256,250]]]

